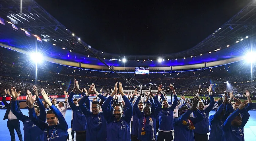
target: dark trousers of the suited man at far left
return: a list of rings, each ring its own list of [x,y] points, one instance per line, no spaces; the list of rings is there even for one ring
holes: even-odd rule
[[[19,140],[22,141],[22,135],[20,132],[20,121],[18,119],[8,120],[7,127],[11,135],[11,141],[15,141],[14,129],[16,130]]]

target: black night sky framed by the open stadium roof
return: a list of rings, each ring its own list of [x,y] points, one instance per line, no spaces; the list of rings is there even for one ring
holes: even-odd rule
[[[115,54],[190,49],[251,0],[36,0],[84,42]]]

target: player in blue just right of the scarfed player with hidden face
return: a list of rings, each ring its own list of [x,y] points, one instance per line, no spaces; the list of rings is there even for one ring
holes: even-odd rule
[[[207,141],[208,140],[207,133],[210,132],[208,117],[215,103],[214,98],[212,96],[212,84],[210,84],[209,89],[207,88],[207,91],[210,94],[209,106],[204,110],[204,103],[202,101],[199,101],[197,104],[197,109],[203,114],[204,119],[199,123],[195,124],[195,130],[194,130],[195,141]]]

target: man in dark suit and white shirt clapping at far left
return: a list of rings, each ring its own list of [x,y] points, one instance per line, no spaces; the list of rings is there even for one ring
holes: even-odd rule
[[[5,104],[5,107],[7,108],[6,112],[5,112],[5,116],[3,118],[3,120],[8,119],[7,121],[7,127],[9,129],[10,135],[11,135],[11,141],[15,141],[15,134],[14,134],[14,129],[18,134],[18,138],[20,141],[22,141],[22,135],[20,132],[20,121],[17,119],[17,117],[13,114],[13,112],[11,111],[11,104],[12,104],[12,99],[10,100],[10,104],[8,104],[6,102],[6,95],[11,96],[9,89],[5,89],[5,93],[3,95],[3,103]],[[20,94],[20,91],[18,92],[18,94]],[[12,97],[12,96],[11,96]],[[18,106],[18,110],[20,110],[20,104],[17,102],[17,106]]]

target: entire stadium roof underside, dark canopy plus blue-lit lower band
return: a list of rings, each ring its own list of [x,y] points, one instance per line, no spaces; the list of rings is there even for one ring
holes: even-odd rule
[[[106,58],[106,62],[109,64],[124,66],[121,61],[118,61],[118,59],[123,59],[124,56],[107,52],[102,53],[102,51],[90,47],[82,40],[78,41],[76,35],[72,36],[72,31],[69,31],[35,1],[22,1],[22,9],[20,9],[20,1],[0,0],[0,3],[0,17],[5,19],[6,23],[11,22],[19,28],[17,32],[12,29],[11,24],[7,23],[5,26],[0,24],[1,43],[18,48],[34,47],[37,45],[48,50],[46,51],[47,55],[53,58],[102,65],[84,49],[84,46],[86,46],[98,54],[100,58]],[[20,28],[30,32],[31,37],[26,37],[24,31],[21,31]],[[252,38],[256,35],[255,30],[256,1],[252,1],[195,47],[179,53],[162,54],[161,58],[165,59],[165,61],[161,63],[161,66],[199,64],[239,56],[239,47],[255,42],[255,39]],[[41,37],[42,43],[36,43],[36,38],[33,35]],[[247,36],[249,37],[248,39],[246,38]],[[72,38],[76,44],[76,49],[73,52],[69,52],[69,50],[72,50],[69,45]],[[79,45],[78,42],[81,42],[82,45]],[[87,55],[90,57],[87,57]],[[159,57],[159,55],[126,55],[127,62],[125,66],[159,66],[157,62]],[[117,60],[109,61],[110,59]]]

